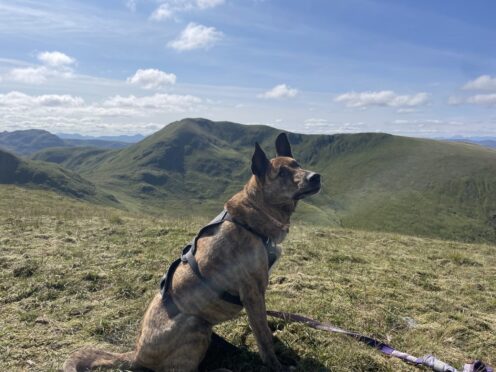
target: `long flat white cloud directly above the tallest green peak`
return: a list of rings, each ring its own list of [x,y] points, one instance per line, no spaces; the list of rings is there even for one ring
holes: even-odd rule
[[[194,109],[201,102],[201,98],[191,95],[157,93],[144,97],[114,96],[105,100],[103,106],[185,112]]]

